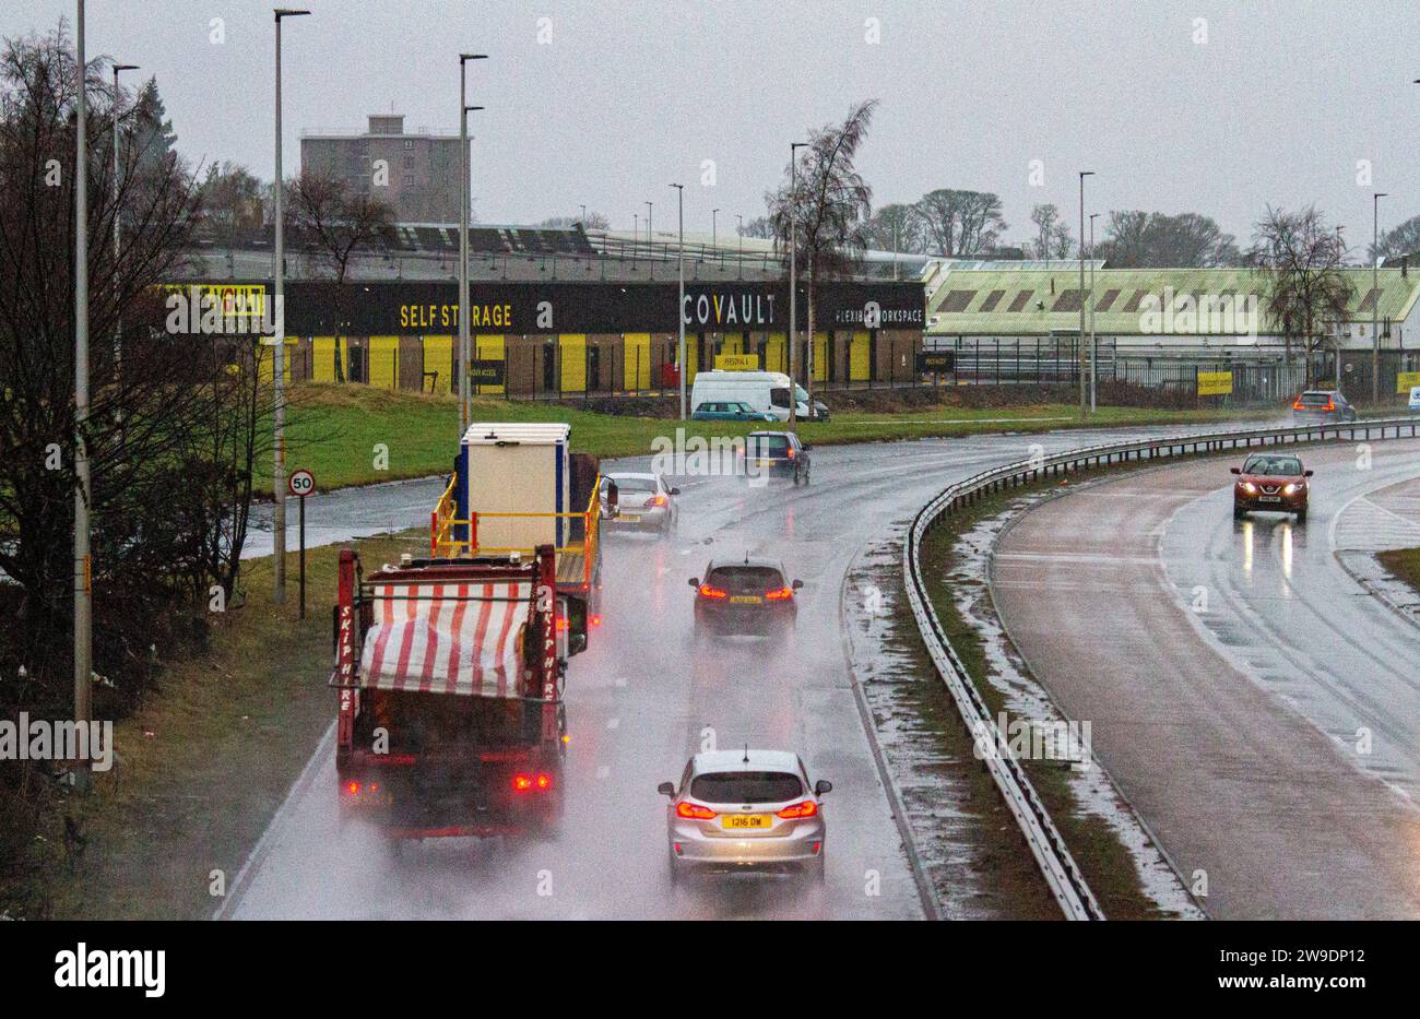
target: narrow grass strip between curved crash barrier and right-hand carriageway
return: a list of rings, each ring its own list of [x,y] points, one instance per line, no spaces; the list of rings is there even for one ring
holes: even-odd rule
[[[984,573],[980,576],[971,575],[964,562],[964,544],[968,535],[978,527],[987,525],[997,518],[1027,510],[1032,500],[1045,497],[1051,491],[1074,487],[1078,481],[1083,480],[1125,474],[1130,470],[1137,470],[1137,466],[1116,464],[1091,470],[1083,475],[1069,475],[1064,483],[1059,478],[1052,478],[1034,485],[995,492],[947,518],[923,539],[920,562],[923,576],[926,578],[929,600],[947,633],[947,639],[967,667],[971,681],[988,705],[993,718],[1005,714],[1010,721],[1018,718],[1025,721],[1022,715],[1011,710],[1010,698],[1001,687],[991,681],[993,676],[998,676],[998,668],[993,663],[987,641],[983,637],[981,619],[964,615],[957,603],[957,589],[968,586],[976,597],[976,613],[990,619],[991,626],[1000,627]],[[1010,647],[1004,632],[1001,633],[1001,640]],[[1014,659],[1012,664],[1015,670],[1021,676],[1030,676],[1024,663],[1015,656],[1014,649],[1010,649],[1010,654]],[[1069,846],[1071,854],[1083,871],[1105,915],[1110,920],[1159,920],[1173,917],[1173,913],[1162,911],[1145,890],[1135,856],[1122,842],[1119,833],[1103,816],[1085,809],[1076,791],[1072,788],[1072,766],[1066,762],[1037,759],[1024,759],[1021,764],[1024,764],[1031,783],[1035,786],[1045,809]]]

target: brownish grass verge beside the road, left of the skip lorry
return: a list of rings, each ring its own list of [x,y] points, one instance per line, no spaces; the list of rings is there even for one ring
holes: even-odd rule
[[[354,542],[366,565],[427,551],[405,532]],[[331,605],[341,546],[307,551],[307,616],[297,556],[287,602],[271,595],[270,558],[251,559],[244,603],[213,613],[210,649],[169,663],[158,688],[114,727],[118,762],[94,789],[68,795],[37,840],[23,880],[57,920],[206,920],[335,718],[327,687]],[[334,791],[331,791],[334,796]],[[65,847],[64,816],[84,846]]]

